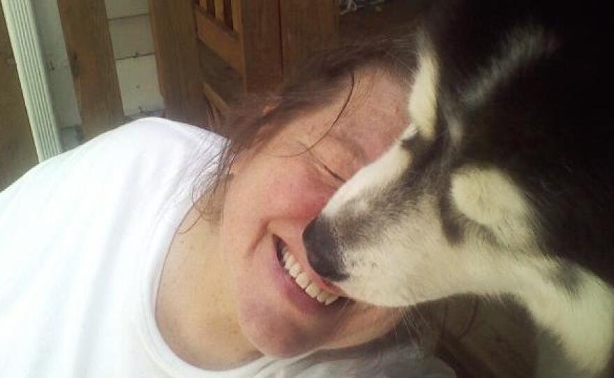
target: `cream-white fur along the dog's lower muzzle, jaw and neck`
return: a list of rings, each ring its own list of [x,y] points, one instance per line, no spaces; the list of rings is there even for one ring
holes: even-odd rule
[[[373,244],[340,252],[350,275],[341,289],[361,301],[392,307],[456,294],[514,294],[538,324],[560,338],[576,367],[594,375],[606,364],[614,340],[611,287],[582,272],[572,297],[553,285],[559,265],[539,251],[501,250],[480,239],[453,246],[436,220],[435,203],[424,197],[414,216],[374,236]],[[538,369],[538,377],[553,372],[551,366]]]

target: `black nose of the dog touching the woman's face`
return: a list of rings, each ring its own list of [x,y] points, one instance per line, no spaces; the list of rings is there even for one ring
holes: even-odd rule
[[[307,260],[314,271],[329,281],[342,281],[343,262],[338,253],[338,243],[326,222],[315,219],[303,232]]]

